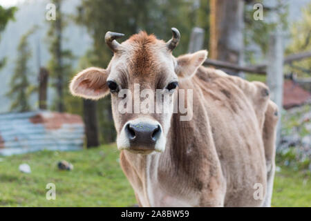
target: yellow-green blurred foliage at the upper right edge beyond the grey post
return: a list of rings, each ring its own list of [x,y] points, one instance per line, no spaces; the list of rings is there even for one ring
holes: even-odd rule
[[[311,3],[302,8],[302,17],[292,24],[291,44],[286,48],[285,55],[311,50]],[[311,58],[294,61],[290,66],[285,66],[285,71],[295,73],[299,77],[310,77]]]

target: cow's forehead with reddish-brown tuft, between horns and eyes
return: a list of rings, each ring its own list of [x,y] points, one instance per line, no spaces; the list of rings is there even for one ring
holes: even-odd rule
[[[139,32],[121,44],[120,53],[113,58],[111,74],[117,77],[122,73],[130,78],[152,80],[158,75],[174,74],[173,62],[173,56],[164,41],[146,32]]]

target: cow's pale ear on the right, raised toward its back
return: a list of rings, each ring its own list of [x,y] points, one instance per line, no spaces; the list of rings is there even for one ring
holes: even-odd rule
[[[193,54],[181,55],[177,58],[175,72],[178,77],[192,77],[205,59],[207,59],[207,50],[199,50]]]

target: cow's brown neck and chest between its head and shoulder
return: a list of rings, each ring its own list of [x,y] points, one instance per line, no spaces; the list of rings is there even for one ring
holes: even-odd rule
[[[152,195],[149,192],[155,188],[166,195],[193,195],[205,188],[206,180],[221,175],[209,119],[202,102],[196,100],[198,93],[194,92],[194,119],[180,121],[180,115],[173,114],[164,153],[137,155],[125,151],[145,195]],[[152,199],[149,202],[152,204]]]

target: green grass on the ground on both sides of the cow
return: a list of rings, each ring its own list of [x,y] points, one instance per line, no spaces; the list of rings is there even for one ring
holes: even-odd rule
[[[73,171],[59,171],[67,160]],[[19,172],[27,163],[32,173]],[[56,185],[56,200],[46,200],[46,184]],[[42,151],[1,157],[0,206],[132,206],[134,193],[119,165],[114,144],[76,152]],[[273,206],[311,206],[310,173],[285,167],[276,173]]]

